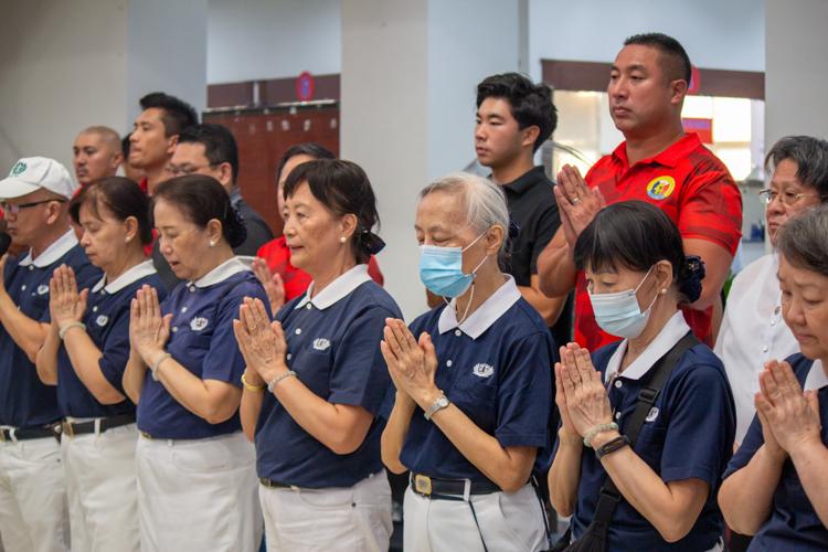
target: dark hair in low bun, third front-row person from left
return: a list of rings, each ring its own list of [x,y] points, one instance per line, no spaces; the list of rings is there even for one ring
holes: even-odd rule
[[[188,174],[171,178],[156,188],[152,206],[160,200],[179,208],[190,222],[201,229],[205,229],[213,219],[219,221],[222,234],[232,248],[247,240],[244,219],[231,205],[227,191],[213,177]]]

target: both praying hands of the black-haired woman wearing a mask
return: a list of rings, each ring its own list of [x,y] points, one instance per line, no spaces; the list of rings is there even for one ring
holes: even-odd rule
[[[601,372],[595,370],[586,349],[577,343],[561,347],[561,362],[555,363],[555,403],[561,412],[562,440],[582,443],[590,432],[613,421],[613,410]],[[592,438],[597,448],[617,436],[612,429]]]

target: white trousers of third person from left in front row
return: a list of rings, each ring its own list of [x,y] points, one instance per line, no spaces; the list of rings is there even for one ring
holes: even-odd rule
[[[262,542],[256,452],[243,433],[198,440],[140,437],[144,552],[253,552]]]

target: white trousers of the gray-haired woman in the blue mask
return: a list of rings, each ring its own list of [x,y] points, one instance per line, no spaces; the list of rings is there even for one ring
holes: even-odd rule
[[[473,495],[469,500],[477,523],[468,502],[425,498],[408,487],[403,505],[405,552],[484,552],[481,535],[489,552],[546,548],[544,513],[531,485],[518,492]]]

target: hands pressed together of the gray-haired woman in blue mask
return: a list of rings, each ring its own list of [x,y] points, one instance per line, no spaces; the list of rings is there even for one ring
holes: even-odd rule
[[[428,410],[443,394],[434,384],[437,354],[432,337],[423,332],[417,341],[405,322],[386,318],[380,349],[396,386],[397,400],[411,400]]]

